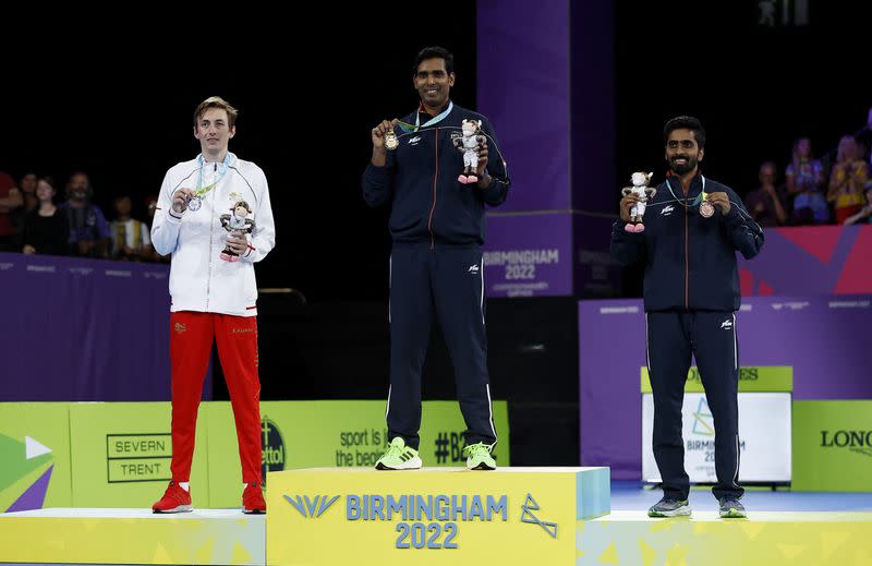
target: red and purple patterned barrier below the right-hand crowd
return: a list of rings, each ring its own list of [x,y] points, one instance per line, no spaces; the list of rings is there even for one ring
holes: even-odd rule
[[[739,256],[742,296],[872,293],[872,226],[765,230],[760,255]]]

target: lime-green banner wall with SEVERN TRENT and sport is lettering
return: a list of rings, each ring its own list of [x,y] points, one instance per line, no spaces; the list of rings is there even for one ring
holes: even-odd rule
[[[261,416],[264,478],[294,468],[368,469],[388,444],[385,401],[263,401]],[[506,401],[493,402],[493,418],[494,458],[509,466]],[[169,402],[0,404],[0,511],[147,509],[171,479],[170,419]],[[464,429],[457,401],[424,401],[424,466],[464,466]],[[195,507],[240,505],[238,446],[230,402],[201,404],[191,469]]]

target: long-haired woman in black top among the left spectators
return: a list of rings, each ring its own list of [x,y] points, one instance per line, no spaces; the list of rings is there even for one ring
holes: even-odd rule
[[[55,206],[55,182],[44,177],[37,181],[36,196],[39,207],[31,210],[24,220],[22,252],[65,255],[70,227],[66,216]]]

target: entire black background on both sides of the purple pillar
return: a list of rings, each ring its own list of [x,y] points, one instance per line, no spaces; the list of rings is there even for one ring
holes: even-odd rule
[[[616,53],[617,178],[640,169],[663,178],[661,132],[678,113],[702,119],[704,171],[740,194],[756,188],[764,160],[783,174],[797,136],[811,136],[820,155],[862,127],[872,2],[809,3],[809,26],[768,28],[755,1],[619,2],[614,45],[603,45]],[[240,109],[230,149],[270,183],[278,238],[259,285],[310,301],[385,299],[388,212],[360,195],[370,129],[415,107],[412,63],[423,46],[455,52],[452,97],[465,107],[475,108],[483,73],[475,2],[367,8],[310,4],[295,17],[154,8],[106,26],[82,14],[10,21],[0,169],[52,174],[61,191],[83,169],[110,219],[111,197],[123,193],[144,217],[166,170],[198,153],[193,109],[223,96]]]

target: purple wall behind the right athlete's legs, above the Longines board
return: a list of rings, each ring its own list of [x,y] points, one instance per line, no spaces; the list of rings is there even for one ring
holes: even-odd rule
[[[741,365],[790,365],[794,399],[869,399],[872,296],[748,297],[737,314]],[[641,299],[579,302],[582,466],[640,479],[645,365]],[[741,431],[740,431],[741,433]]]

